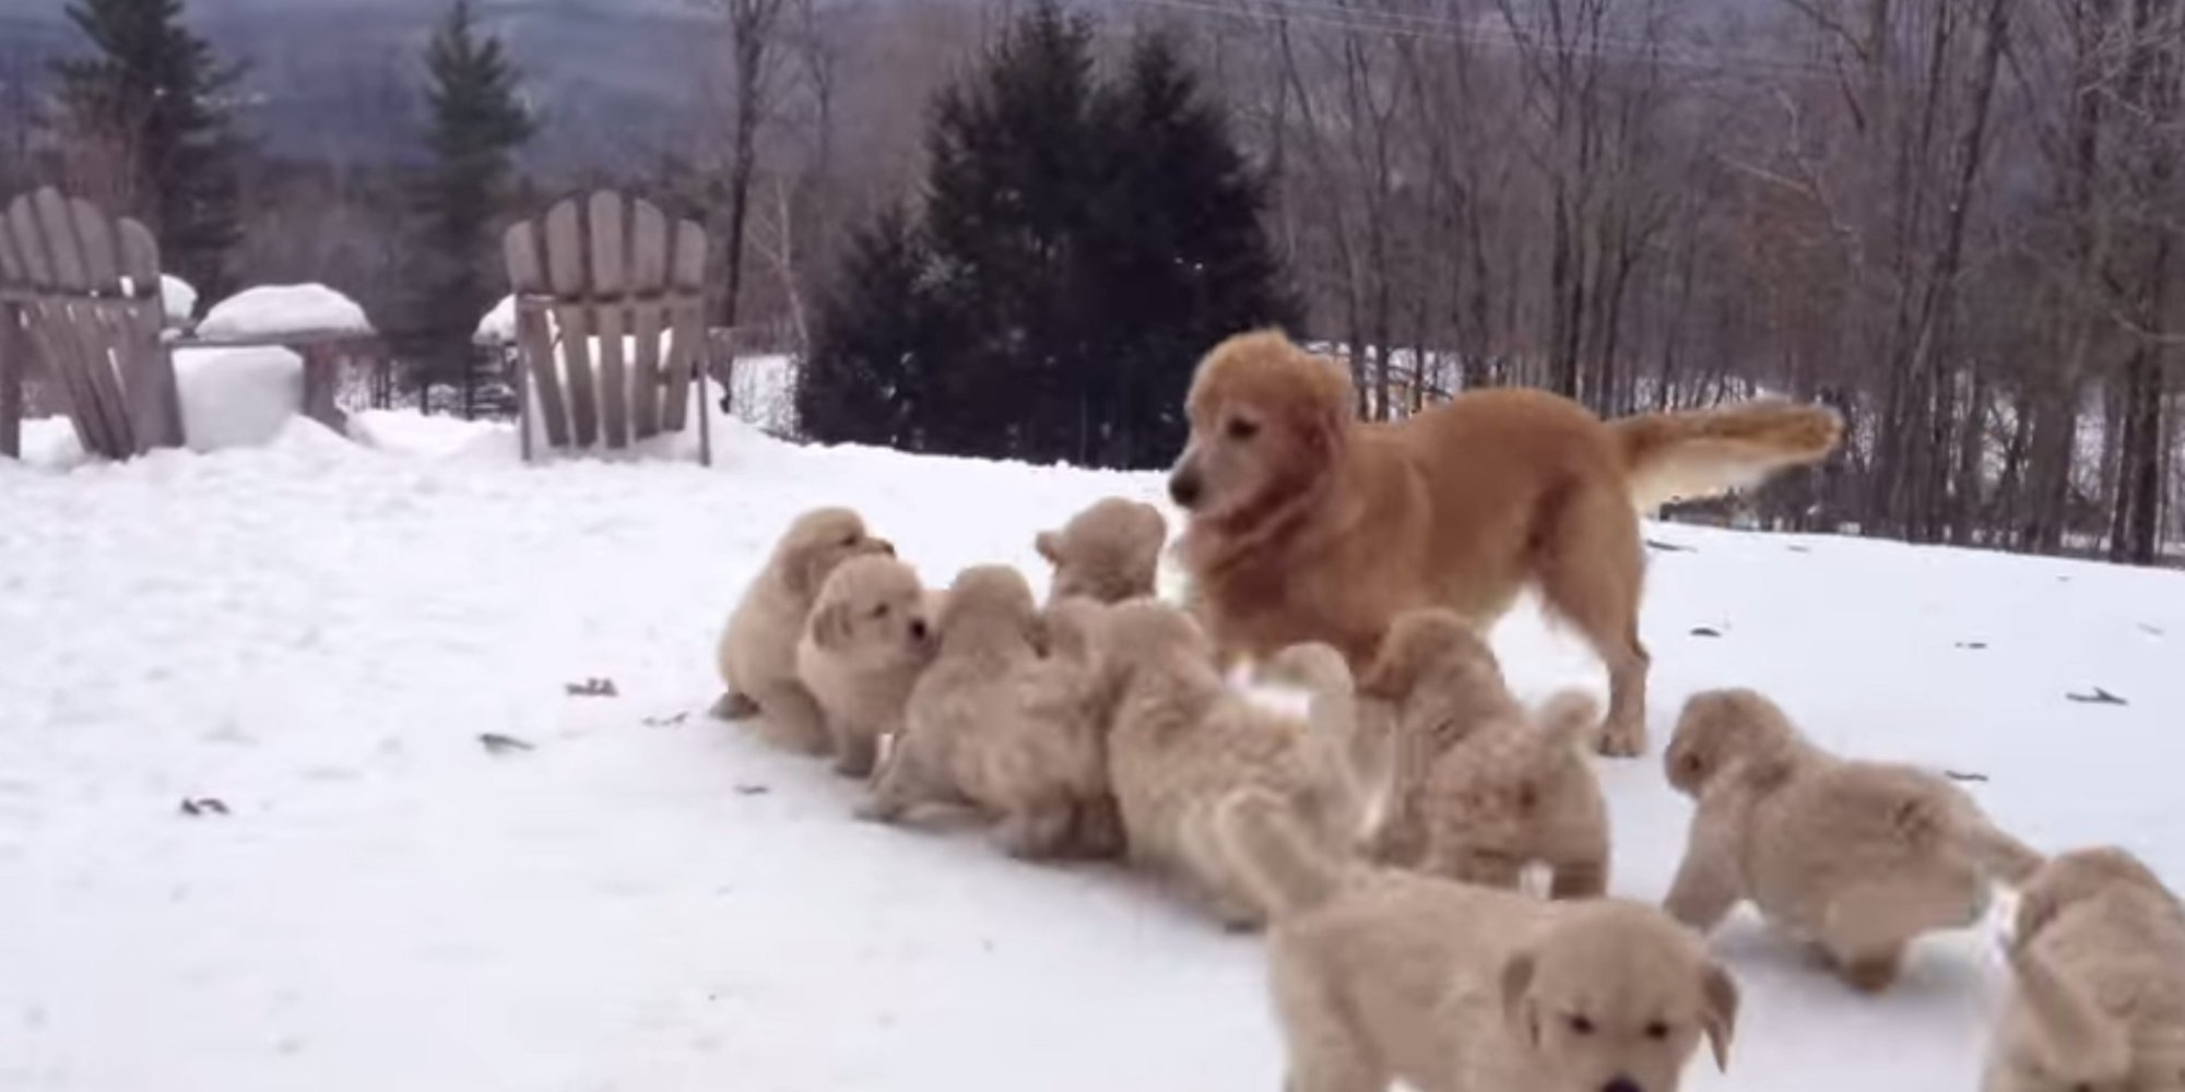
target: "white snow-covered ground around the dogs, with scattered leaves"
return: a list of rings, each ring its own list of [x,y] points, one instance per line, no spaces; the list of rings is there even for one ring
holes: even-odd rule
[[[28,450],[57,452],[52,422]],[[780,526],[857,505],[931,581],[1156,476],[793,448],[520,465],[507,428],[361,415],[68,472],[0,461],[0,1088],[1274,1092],[1256,941],[1108,867],[857,823],[850,784],[704,716]],[[1606,764],[1613,887],[1658,898],[1693,688],[1986,775],[2025,839],[2185,880],[2185,579],[1656,526],[1656,756]],[[1720,636],[1700,636],[1709,629]],[[1527,695],[1597,673],[1530,612]],[[605,677],[618,697],[572,697]],[[2093,688],[2124,699],[2078,703]],[[489,751],[481,734],[531,749]],[[216,797],[227,815],[186,815]],[[1881,1000],[1750,919],[1728,1077],[1971,1088],[2001,970]]]

